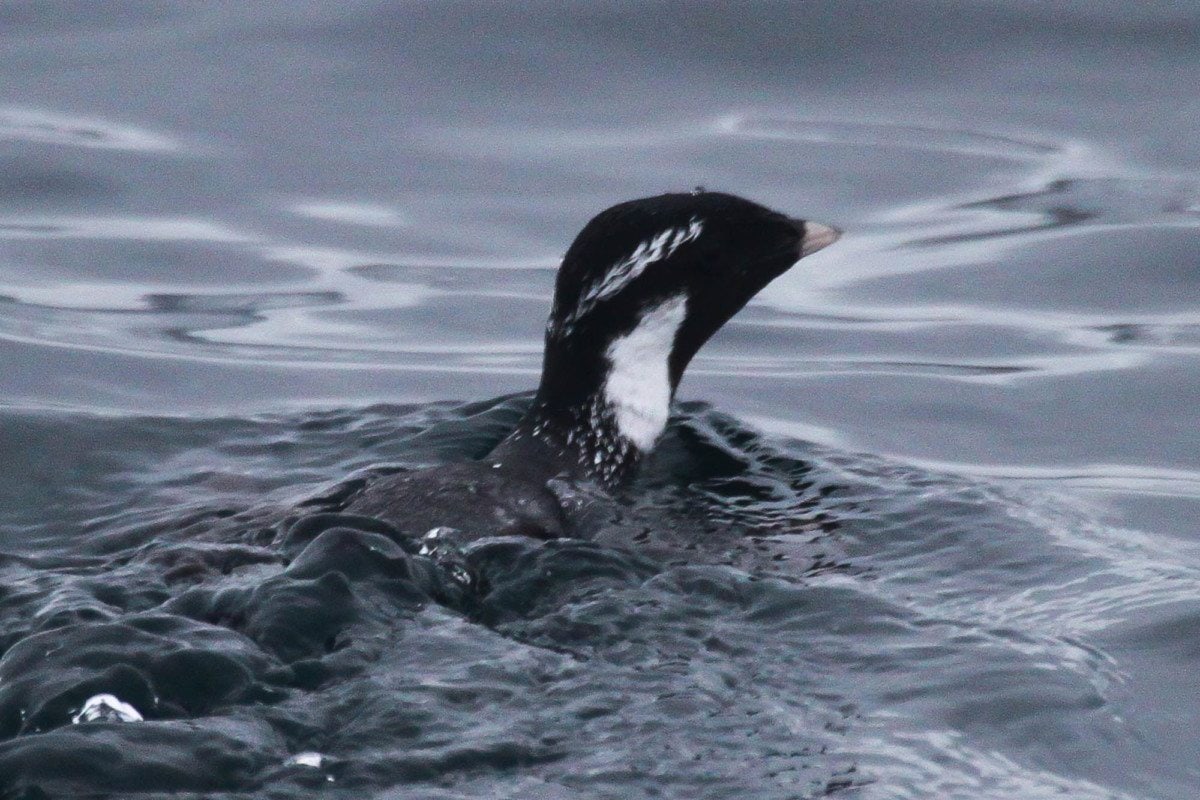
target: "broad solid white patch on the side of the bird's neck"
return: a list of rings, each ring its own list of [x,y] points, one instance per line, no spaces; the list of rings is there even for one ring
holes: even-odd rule
[[[608,345],[608,378],[604,397],[617,429],[646,452],[667,423],[671,377],[667,360],[676,332],[688,313],[688,297],[677,295],[648,309],[637,327]]]

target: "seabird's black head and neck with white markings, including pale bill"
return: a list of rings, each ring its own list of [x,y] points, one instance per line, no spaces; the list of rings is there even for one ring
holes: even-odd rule
[[[542,428],[594,428],[605,452],[582,456],[596,464],[607,458],[608,439],[617,451],[648,452],[701,345],[763,287],[836,237],[828,225],[715,192],[602,211],[559,267],[532,419]]]

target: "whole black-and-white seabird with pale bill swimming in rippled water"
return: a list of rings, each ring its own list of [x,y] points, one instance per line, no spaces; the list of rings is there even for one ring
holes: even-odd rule
[[[407,536],[570,533],[562,480],[611,489],[666,427],[701,345],[800,258],[839,231],[719,192],[614,205],[566,251],[528,413],[485,458],[389,475],[344,506]]]

